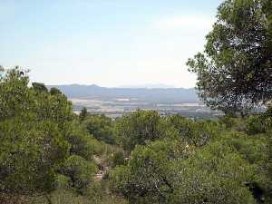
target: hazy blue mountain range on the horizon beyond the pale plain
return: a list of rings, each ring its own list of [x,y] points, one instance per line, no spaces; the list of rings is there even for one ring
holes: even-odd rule
[[[92,85],[48,85],[60,89],[68,98],[109,100],[133,99],[141,102],[199,102],[193,88],[106,88]]]

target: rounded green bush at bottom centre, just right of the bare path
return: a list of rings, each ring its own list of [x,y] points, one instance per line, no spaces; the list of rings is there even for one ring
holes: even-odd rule
[[[136,146],[128,165],[117,166],[110,172],[112,191],[131,203],[164,203],[173,191],[178,160],[191,153],[179,141],[154,141],[147,146]]]

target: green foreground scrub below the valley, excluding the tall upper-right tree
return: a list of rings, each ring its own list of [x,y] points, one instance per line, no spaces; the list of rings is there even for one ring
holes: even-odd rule
[[[191,121],[78,116],[56,89],[2,74],[1,203],[271,203],[272,109]]]

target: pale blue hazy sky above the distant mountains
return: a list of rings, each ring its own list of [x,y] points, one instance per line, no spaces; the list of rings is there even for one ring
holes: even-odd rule
[[[220,0],[0,0],[0,64],[46,84],[192,87]]]

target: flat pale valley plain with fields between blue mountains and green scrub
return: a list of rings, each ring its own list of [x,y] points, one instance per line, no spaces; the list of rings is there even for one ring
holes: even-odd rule
[[[214,118],[221,112],[211,111],[202,103],[150,103],[139,102],[137,99],[112,99],[112,101],[100,101],[97,99],[72,98],[73,110],[79,113],[83,107],[92,114],[104,114],[111,118],[135,112],[137,110],[156,110],[160,115],[181,114],[192,119]]]

